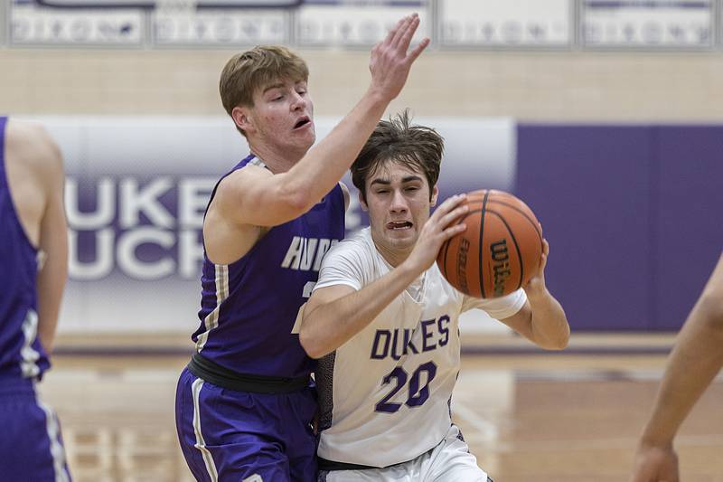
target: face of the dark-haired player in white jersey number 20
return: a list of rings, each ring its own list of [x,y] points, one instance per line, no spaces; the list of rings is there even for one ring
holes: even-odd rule
[[[371,236],[382,254],[408,254],[417,242],[429,208],[437,201],[437,186],[429,200],[427,177],[395,161],[380,165],[366,180]]]

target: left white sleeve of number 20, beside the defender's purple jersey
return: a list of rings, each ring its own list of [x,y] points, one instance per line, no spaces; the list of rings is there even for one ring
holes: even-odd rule
[[[365,268],[372,264],[368,251],[358,235],[335,244],[324,255],[314,291],[334,285],[350,286],[357,291],[362,289],[370,282],[369,268]]]

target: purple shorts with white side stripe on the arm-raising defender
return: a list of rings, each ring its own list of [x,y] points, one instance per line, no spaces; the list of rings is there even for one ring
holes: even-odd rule
[[[197,480],[312,482],[316,393],[250,393],[221,388],[184,369],[175,394],[175,425]]]

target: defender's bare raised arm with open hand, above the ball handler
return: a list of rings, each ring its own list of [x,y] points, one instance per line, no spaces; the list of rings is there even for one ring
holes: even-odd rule
[[[408,50],[417,14],[407,16],[371,51],[371,84],[352,111],[286,173],[241,169],[221,182],[214,203],[236,224],[276,226],[305,213],[352,165],[390,101],[399,95],[425,39]]]

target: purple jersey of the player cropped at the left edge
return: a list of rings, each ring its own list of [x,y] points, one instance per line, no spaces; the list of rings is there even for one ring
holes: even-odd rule
[[[50,362],[38,333],[37,249],[15,213],[5,175],[5,126],[0,117],[0,380],[41,378]],[[0,382],[2,383],[2,382]]]

